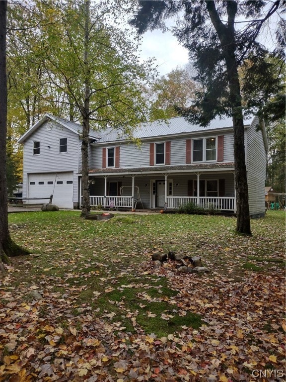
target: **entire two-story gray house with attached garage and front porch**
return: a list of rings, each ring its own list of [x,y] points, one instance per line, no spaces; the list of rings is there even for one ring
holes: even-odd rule
[[[258,123],[258,117],[244,121],[252,216],[265,214],[267,136]],[[53,194],[60,208],[80,206],[81,131],[77,123],[46,114],[19,139],[24,198]],[[140,146],[114,130],[90,130],[91,205],[173,209],[193,201],[236,211],[231,118],[216,118],[207,127],[184,117],[146,122],[134,136]]]

